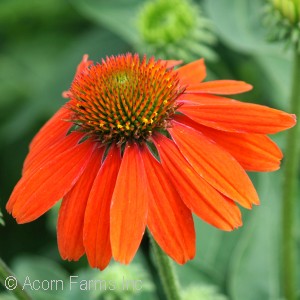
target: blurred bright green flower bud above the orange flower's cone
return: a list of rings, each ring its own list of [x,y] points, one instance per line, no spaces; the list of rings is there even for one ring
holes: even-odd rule
[[[216,59],[211,46],[212,24],[189,0],[155,0],[145,3],[137,19],[141,52],[165,59],[192,61]]]

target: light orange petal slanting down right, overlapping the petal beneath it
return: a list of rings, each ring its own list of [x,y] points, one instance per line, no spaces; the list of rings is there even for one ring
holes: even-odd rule
[[[181,123],[174,122],[169,132],[191,166],[215,189],[244,207],[259,204],[251,180],[228,152]]]

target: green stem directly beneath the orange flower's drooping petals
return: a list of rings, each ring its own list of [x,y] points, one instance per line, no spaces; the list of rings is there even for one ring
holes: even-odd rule
[[[168,300],[180,300],[179,283],[170,258],[161,250],[149,233],[160,281]]]

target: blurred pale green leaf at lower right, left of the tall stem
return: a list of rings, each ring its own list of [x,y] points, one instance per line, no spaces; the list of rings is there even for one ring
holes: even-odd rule
[[[260,174],[261,205],[232,253],[229,292],[233,300],[280,298],[281,174]]]

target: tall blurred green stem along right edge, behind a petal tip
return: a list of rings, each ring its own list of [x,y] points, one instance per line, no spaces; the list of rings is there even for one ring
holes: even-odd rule
[[[300,54],[293,60],[291,112],[300,115]],[[283,284],[287,300],[296,299],[295,210],[299,166],[300,124],[289,130],[286,145],[285,182],[283,190]]]

